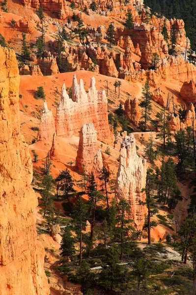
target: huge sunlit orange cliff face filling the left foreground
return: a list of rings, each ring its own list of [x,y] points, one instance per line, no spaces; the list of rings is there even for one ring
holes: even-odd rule
[[[32,162],[20,133],[19,84],[14,51],[0,47],[0,295],[48,295]]]

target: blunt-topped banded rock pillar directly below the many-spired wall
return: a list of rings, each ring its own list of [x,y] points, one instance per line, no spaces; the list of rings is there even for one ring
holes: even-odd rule
[[[97,131],[93,123],[84,124],[81,128],[76,163],[81,172],[90,173],[94,156],[97,152]]]

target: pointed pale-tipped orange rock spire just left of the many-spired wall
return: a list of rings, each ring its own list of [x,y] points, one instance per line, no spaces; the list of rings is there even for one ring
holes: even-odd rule
[[[44,101],[44,109],[42,111],[41,123],[37,134],[38,140],[52,141],[55,130],[55,120],[53,118],[52,109],[49,110],[46,100]]]

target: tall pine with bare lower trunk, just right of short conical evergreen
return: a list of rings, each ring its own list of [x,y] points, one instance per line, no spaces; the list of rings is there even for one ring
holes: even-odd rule
[[[74,206],[74,211],[72,213],[73,224],[77,234],[78,241],[80,243],[80,264],[82,263],[83,254],[83,229],[86,225],[87,220],[87,207],[84,204],[82,198],[80,197]]]

